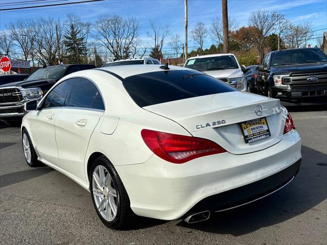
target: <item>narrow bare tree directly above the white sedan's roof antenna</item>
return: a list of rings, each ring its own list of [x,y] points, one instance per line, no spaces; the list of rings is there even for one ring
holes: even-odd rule
[[[154,41],[150,56],[156,59],[162,58],[162,46],[164,46],[165,38],[169,35],[169,25],[155,26],[153,20],[150,20],[151,31],[147,32],[148,37],[151,37]]]

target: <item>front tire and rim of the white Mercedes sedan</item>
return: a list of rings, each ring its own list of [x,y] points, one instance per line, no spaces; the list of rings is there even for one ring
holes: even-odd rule
[[[34,146],[32,144],[30,135],[26,129],[22,130],[21,144],[22,144],[22,149],[24,151],[24,156],[25,156],[27,165],[29,165],[30,167],[44,166],[43,163],[41,163],[37,160],[37,155],[35,153]]]

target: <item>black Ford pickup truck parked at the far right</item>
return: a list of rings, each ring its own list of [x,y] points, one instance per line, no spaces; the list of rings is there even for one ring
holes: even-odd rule
[[[258,66],[258,92],[292,104],[327,104],[327,56],[319,48],[268,53]]]

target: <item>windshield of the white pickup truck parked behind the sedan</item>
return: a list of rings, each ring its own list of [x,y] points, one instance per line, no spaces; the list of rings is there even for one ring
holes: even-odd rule
[[[226,70],[226,69],[238,69],[234,56],[223,55],[216,57],[204,57],[191,59],[186,62],[185,67],[195,70]]]

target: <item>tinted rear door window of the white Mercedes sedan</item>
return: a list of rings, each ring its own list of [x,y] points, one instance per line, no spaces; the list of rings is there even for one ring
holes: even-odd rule
[[[75,82],[66,104],[69,107],[92,108],[97,94],[96,85],[87,79],[81,78]]]

